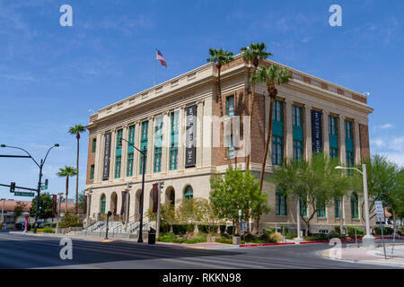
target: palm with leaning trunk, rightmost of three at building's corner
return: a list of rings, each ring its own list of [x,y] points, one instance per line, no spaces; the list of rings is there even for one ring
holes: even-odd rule
[[[261,173],[259,177],[259,190],[262,191],[262,184],[264,182],[265,167],[267,165],[267,155],[269,149],[269,143],[271,142],[272,136],[272,113],[274,109],[274,100],[277,98],[277,88],[275,83],[282,85],[288,83],[292,76],[285,68],[279,67],[279,65],[273,64],[267,68],[264,65],[259,65],[258,70],[250,78],[251,83],[266,83],[268,87],[268,96],[270,99],[269,104],[269,117],[268,117],[268,131],[267,131],[267,141],[265,144],[264,158],[262,160]],[[258,232],[259,227],[259,216],[254,222],[254,233]]]

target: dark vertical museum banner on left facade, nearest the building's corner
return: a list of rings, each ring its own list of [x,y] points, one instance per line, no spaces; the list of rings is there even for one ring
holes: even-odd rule
[[[195,167],[197,160],[197,105],[187,109],[187,131],[185,135],[185,167]]]

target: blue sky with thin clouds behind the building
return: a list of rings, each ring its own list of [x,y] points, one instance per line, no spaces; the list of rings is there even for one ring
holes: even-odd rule
[[[59,24],[62,4],[73,7],[73,27]],[[329,26],[331,4],[342,7],[342,27]],[[238,54],[265,41],[277,62],[369,91],[371,152],[404,165],[403,12],[401,0],[0,0],[0,142],[38,160],[60,143],[44,177],[50,193],[64,192],[65,179],[56,173],[75,166],[76,151],[68,128],[86,125],[89,109],[152,86],[155,48],[168,64],[157,66],[162,83],[206,64],[208,48]],[[83,189],[88,133],[81,143]],[[0,161],[0,183],[36,187],[31,160]],[[75,179],[69,189],[73,198]],[[0,187],[2,197],[13,196]]]

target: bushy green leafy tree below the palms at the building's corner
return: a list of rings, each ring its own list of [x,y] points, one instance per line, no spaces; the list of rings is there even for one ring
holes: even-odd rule
[[[250,170],[242,172],[229,166],[224,176],[211,178],[210,185],[209,198],[215,214],[220,219],[236,222],[236,228],[239,225],[239,210],[242,210],[241,219],[244,221],[249,221],[250,215],[269,211],[267,194],[259,192],[259,182]]]

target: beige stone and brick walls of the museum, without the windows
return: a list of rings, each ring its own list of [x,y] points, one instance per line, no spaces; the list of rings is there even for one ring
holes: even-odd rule
[[[266,60],[265,65],[274,62]],[[183,199],[184,192],[193,191],[194,197],[209,197],[210,178],[216,174],[224,173],[229,164],[245,169],[246,156],[235,156],[230,159],[229,150],[224,145],[224,122],[229,120],[226,115],[226,99],[234,97],[234,115],[249,116],[250,83],[249,76],[253,66],[245,63],[242,56],[235,57],[229,65],[221,69],[222,105],[217,98],[217,70],[215,65],[206,64],[186,74],[161,83],[151,89],[142,91],[125,100],[120,100],[106,108],[100,109],[92,115],[87,128],[90,131],[89,153],[87,164],[86,194],[89,198],[88,216],[96,218],[101,210],[101,198],[105,196],[105,212],[116,209],[120,212],[122,206],[122,191],[129,193],[129,220],[136,220],[139,212],[139,198],[141,193],[142,176],[140,174],[140,153],[134,152],[133,175],[127,176],[127,144],[124,142],[121,149],[120,174],[115,177],[115,162],[117,151],[117,134],[122,129],[124,139],[128,138],[129,126],[135,125],[135,146],[141,146],[141,123],[148,120],[148,143],[145,172],[145,210],[152,206],[152,186],[154,182],[164,181],[162,190],[162,203],[171,200]],[[366,105],[366,97],[344,87],[328,83],[310,74],[304,74],[290,67],[288,69],[294,78],[283,86],[277,86],[277,100],[284,103],[284,157],[291,158],[294,154],[293,142],[293,106],[303,109],[303,156],[310,159],[312,156],[312,110],[321,111],[323,151],[329,152],[329,117],[338,117],[338,154],[340,161],[346,163],[345,127],[346,119],[353,121],[354,133],[354,159],[360,163],[369,154],[368,114],[373,109]],[[196,165],[185,167],[185,135],[186,108],[197,105],[196,126]],[[222,107],[222,110],[220,110]],[[259,178],[261,161],[265,151],[265,140],[268,128],[269,98],[267,87],[258,84],[255,91],[254,113],[252,129],[250,131],[251,162],[250,169]],[[177,169],[170,169],[171,156],[171,112],[179,112],[179,145]],[[210,117],[221,117],[221,121],[212,124]],[[154,172],[154,123],[162,117],[162,157],[161,170]],[[242,118],[241,118],[242,121]],[[241,126],[240,137],[248,136],[247,126]],[[108,178],[103,180],[103,163],[105,135],[111,133],[110,142],[110,170]],[[219,137],[219,138],[217,138]],[[92,153],[92,139],[96,138],[96,152]],[[215,146],[214,143],[220,143]],[[236,151],[242,148],[235,148]],[[266,177],[272,170],[272,145],[269,145]],[[90,179],[90,169],[94,165],[94,179]],[[296,201],[287,198],[287,213],[276,214],[276,187],[264,182],[264,191],[268,193],[268,203],[271,211],[262,215],[260,227],[275,224],[295,223]],[[116,199],[115,199],[116,198]],[[352,219],[350,216],[350,200],[344,198],[344,221],[347,224],[364,225],[363,220]],[[309,211],[310,213],[310,211]],[[361,213],[361,204],[359,204]],[[316,216],[315,216],[316,217]],[[334,205],[327,206],[326,216],[316,217],[312,225],[331,226],[338,225],[339,219],[334,216]]]

